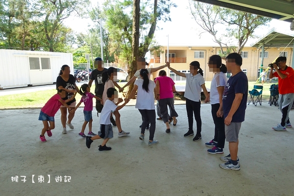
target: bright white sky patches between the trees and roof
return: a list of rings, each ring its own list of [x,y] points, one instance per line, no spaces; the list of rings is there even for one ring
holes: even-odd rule
[[[91,0],[92,7],[96,6],[97,3],[102,3],[104,0]],[[157,29],[155,31],[155,40],[159,45],[167,46],[218,46],[213,42],[213,37],[209,33],[202,33],[199,37],[199,32],[203,30],[197,26],[193,16],[190,13],[189,1],[181,0],[181,3],[178,3],[179,0],[173,0],[177,4],[177,7],[171,8],[170,17],[172,22],[159,22],[157,26],[162,29]],[[80,19],[77,17],[70,17],[65,20],[65,25],[71,27],[75,32],[86,33],[89,26],[93,23],[90,19]],[[272,20],[270,25],[263,26],[258,29],[255,34],[259,37],[267,34],[271,28],[278,27],[279,30],[290,29],[290,23],[278,20]],[[294,33],[292,31],[292,33]],[[169,39],[168,39],[169,35]],[[246,46],[252,44],[254,40],[248,40]]]

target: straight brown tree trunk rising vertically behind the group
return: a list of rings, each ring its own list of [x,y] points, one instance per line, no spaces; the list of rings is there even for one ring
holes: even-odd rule
[[[140,0],[133,0],[133,33],[132,33],[132,64],[129,67],[129,75],[133,76],[137,69],[139,58],[139,36],[140,36]],[[134,83],[129,85],[126,97],[128,97],[134,87]]]

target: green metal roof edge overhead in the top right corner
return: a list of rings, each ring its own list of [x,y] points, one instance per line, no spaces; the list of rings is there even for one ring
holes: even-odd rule
[[[281,21],[294,20],[294,0],[196,0],[221,7],[266,16]]]

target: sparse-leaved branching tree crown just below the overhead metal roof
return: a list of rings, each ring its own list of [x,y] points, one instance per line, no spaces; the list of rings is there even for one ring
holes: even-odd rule
[[[189,0],[189,4],[196,23],[204,32],[210,33],[214,37],[214,41],[220,45],[219,55],[222,57],[231,52],[241,53],[248,38],[254,36],[254,31],[271,20],[270,18],[196,2],[195,0]],[[220,35],[219,29],[224,28],[224,26],[226,30]],[[232,44],[234,47],[229,46]]]

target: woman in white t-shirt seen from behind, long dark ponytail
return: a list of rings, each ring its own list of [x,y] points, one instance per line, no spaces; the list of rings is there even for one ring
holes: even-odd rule
[[[135,108],[139,109],[139,112],[144,118],[139,139],[144,141],[145,127],[147,123],[150,122],[148,145],[153,145],[158,143],[157,140],[153,140],[156,119],[154,106],[154,98],[157,96],[156,85],[154,81],[149,79],[147,69],[140,70],[140,77],[140,79],[135,81],[134,88],[130,93],[129,98],[133,98],[138,90]]]

